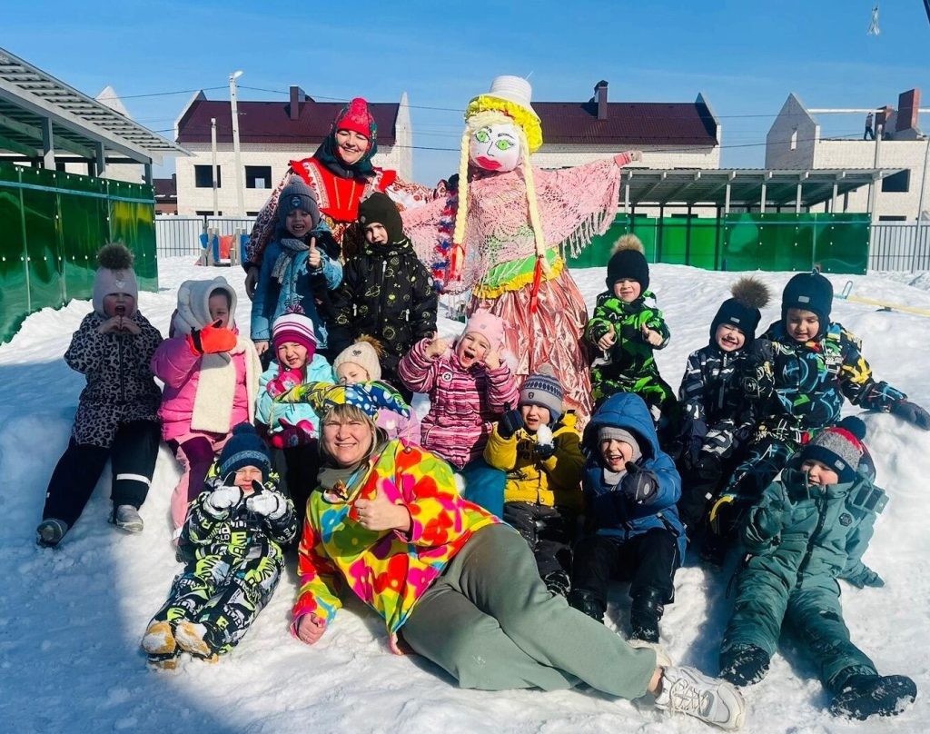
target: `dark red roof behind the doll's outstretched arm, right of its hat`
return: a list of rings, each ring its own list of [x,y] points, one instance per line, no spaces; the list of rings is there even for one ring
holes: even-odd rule
[[[547,143],[583,145],[717,145],[716,124],[697,102],[533,102]]]

